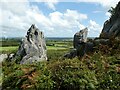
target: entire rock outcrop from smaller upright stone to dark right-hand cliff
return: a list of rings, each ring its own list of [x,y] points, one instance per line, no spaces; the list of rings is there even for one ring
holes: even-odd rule
[[[112,41],[114,39],[120,39],[120,2],[117,4],[113,15],[105,22],[99,38],[87,41],[87,32],[88,30],[85,28],[74,35],[74,49],[64,57],[82,57],[85,53],[94,51],[96,46],[112,46]]]

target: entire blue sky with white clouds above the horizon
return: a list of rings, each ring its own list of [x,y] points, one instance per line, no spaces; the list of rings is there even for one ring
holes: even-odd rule
[[[35,24],[45,37],[98,37],[119,0],[0,0],[0,37],[24,37]]]

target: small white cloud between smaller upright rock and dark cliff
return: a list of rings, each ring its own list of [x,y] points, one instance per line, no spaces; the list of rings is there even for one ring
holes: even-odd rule
[[[89,29],[89,32],[88,32],[89,36],[93,35],[93,37],[95,37],[95,36],[98,37],[102,30],[102,26],[97,24],[95,21],[90,20],[88,29]]]

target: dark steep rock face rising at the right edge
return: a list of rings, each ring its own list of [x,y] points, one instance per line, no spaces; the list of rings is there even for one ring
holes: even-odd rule
[[[100,34],[100,38],[116,38],[120,37],[120,2],[115,8],[114,14],[104,23],[104,27]]]

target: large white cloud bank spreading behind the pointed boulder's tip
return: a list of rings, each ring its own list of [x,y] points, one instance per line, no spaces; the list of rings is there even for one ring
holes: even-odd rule
[[[2,2],[1,5],[0,32],[7,32],[3,32],[3,36],[8,37],[24,36],[31,24],[36,24],[46,36],[72,37],[85,27],[81,22],[87,19],[86,14],[70,9],[63,13],[54,11],[45,16],[38,6],[29,2]]]

